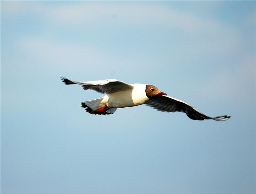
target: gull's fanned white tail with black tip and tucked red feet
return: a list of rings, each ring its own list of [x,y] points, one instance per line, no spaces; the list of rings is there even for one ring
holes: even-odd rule
[[[99,107],[102,99],[103,98],[98,98],[95,100],[84,101],[81,103],[81,106],[83,108],[86,108],[86,112],[89,112],[90,114],[113,114],[116,111],[116,108],[108,108],[107,105],[105,105],[104,107]]]

